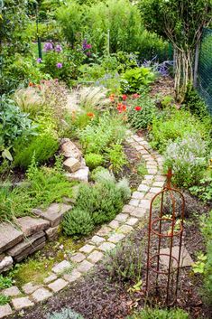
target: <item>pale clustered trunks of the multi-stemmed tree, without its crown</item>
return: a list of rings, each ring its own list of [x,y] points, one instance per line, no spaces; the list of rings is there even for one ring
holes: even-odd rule
[[[183,51],[175,48],[175,98],[182,103],[188,90],[189,84],[193,83],[193,51]]]

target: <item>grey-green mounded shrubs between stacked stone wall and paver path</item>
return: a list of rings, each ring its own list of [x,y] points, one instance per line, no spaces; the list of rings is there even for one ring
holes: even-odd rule
[[[79,187],[76,208],[63,222],[67,234],[88,234],[94,224],[113,220],[130,197],[127,181],[115,183],[115,177],[106,169],[97,170],[94,178],[94,185],[82,184]]]

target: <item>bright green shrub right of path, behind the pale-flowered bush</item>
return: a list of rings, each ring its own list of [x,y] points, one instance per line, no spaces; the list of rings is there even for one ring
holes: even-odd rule
[[[176,108],[165,109],[152,120],[151,145],[163,152],[166,146],[178,137],[183,138],[188,134],[200,134],[209,141],[211,127],[207,122],[191,116],[188,111]]]

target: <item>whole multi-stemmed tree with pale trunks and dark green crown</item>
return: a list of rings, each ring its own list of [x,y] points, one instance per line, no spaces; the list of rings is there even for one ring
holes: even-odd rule
[[[196,47],[212,20],[212,0],[140,0],[140,8],[147,29],[173,45],[175,93],[182,102],[193,83]]]

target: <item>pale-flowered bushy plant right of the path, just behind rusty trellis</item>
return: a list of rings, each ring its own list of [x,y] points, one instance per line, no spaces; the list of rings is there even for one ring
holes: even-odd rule
[[[198,183],[207,167],[207,145],[199,134],[179,137],[167,146],[164,167],[172,168],[173,181],[179,186]]]

